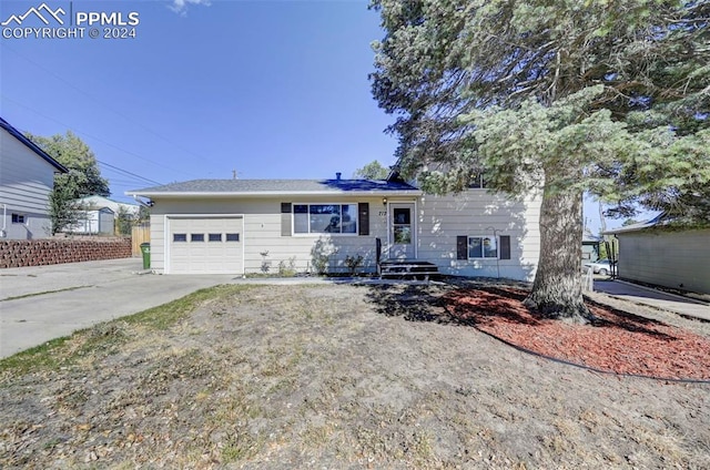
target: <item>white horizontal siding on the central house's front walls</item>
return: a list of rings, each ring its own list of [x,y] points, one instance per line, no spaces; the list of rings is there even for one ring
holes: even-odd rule
[[[271,198],[153,198],[151,208],[151,268],[165,270],[165,226],[171,215],[239,214],[244,216],[244,272],[246,274],[278,272],[280,263],[288,266],[291,259],[298,272],[313,270],[312,249],[322,246],[333,251],[332,272],[346,272],[346,256],[364,258],[361,270],[376,269],[376,242],[383,242],[383,256],[387,254],[387,205],[382,197],[271,197]],[[292,204],[369,204],[369,235],[301,235],[282,236],[281,203]],[[388,204],[416,204],[417,259],[435,263],[445,274],[464,276],[497,276],[495,260],[457,260],[457,235],[497,234],[511,237],[511,259],[500,260],[500,276],[531,279],[539,255],[539,202],[510,202],[485,191],[473,190],[457,196],[388,197]]]

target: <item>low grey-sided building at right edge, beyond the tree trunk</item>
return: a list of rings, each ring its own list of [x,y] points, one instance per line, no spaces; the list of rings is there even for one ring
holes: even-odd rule
[[[658,217],[608,231],[619,239],[618,276],[710,294],[710,228],[667,226]]]

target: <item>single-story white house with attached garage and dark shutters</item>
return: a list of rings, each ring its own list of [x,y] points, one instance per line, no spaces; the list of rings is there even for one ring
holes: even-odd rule
[[[197,180],[128,192],[150,198],[151,267],[163,274],[346,272],[363,257],[435,264],[464,276],[531,279],[539,200],[486,190],[435,196],[396,178]],[[315,262],[315,263],[314,263]]]

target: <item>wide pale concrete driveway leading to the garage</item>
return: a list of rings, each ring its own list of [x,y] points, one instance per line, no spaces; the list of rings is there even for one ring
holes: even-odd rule
[[[0,269],[0,358],[235,279],[141,269],[141,258]]]

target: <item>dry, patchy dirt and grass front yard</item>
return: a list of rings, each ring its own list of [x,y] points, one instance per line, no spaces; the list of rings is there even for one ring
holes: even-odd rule
[[[174,321],[83,331],[6,362],[0,467],[710,468],[710,384],[523,352],[453,319],[455,288],[224,286]]]

